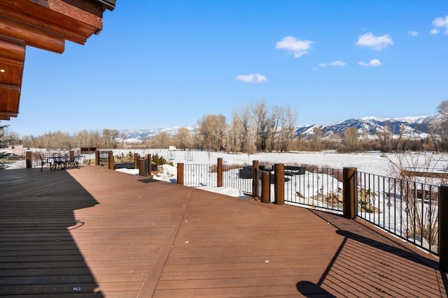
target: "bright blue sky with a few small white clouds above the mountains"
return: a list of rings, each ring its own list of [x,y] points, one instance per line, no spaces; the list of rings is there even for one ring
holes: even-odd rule
[[[104,29],[27,47],[20,135],[196,126],[264,100],[297,126],[435,114],[448,1],[118,0]]]

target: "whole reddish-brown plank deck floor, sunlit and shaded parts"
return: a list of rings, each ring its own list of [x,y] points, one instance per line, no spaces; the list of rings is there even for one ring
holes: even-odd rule
[[[357,221],[104,167],[0,171],[0,296],[448,297]]]

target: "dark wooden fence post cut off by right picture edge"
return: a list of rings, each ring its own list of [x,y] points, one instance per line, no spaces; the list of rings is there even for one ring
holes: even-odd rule
[[[439,268],[444,272],[448,272],[448,184],[440,186]]]

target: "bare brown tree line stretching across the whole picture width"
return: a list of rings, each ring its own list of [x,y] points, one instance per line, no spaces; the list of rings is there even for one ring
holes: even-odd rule
[[[197,128],[179,128],[175,135],[162,131],[141,142],[124,142],[127,135],[116,129],[80,131],[73,135],[45,133],[40,136],[18,137],[0,126],[0,146],[22,143],[24,147],[45,149],[99,149],[168,148],[201,149],[253,153],[257,151],[448,151],[448,100],[437,106],[438,121],[428,125],[429,135],[419,139],[403,136],[404,128],[393,133],[387,124],[374,137],[360,135],[355,127],[346,128],[342,135],[323,135],[320,127],[311,136],[295,135],[297,112],[290,107],[268,107],[264,101],[249,103],[232,112],[228,123],[223,114],[207,114],[197,121]],[[6,140],[8,140],[6,142]]]

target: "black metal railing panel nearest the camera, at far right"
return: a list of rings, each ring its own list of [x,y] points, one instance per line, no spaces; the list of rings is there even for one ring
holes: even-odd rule
[[[440,186],[357,172],[357,215],[420,248],[438,251]]]

